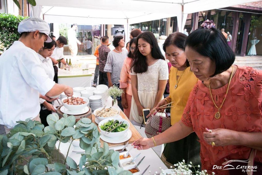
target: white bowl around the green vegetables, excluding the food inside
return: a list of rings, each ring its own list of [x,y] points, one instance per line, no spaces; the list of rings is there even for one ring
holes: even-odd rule
[[[124,131],[120,131],[120,132],[110,132],[110,133],[108,133],[108,132],[106,132],[106,131],[103,131],[100,126],[103,125],[104,123],[108,122],[109,120],[118,120],[119,122],[122,121],[124,124],[127,124],[127,129],[125,129]],[[121,118],[108,118],[108,117],[106,117],[106,119],[104,119],[104,120],[102,120],[102,121],[99,122],[98,127],[99,127],[99,129],[100,129],[100,133],[101,133],[101,134],[103,134],[103,135],[105,135],[105,136],[107,136],[107,137],[116,138],[116,137],[121,137],[121,136],[123,136],[124,134],[126,134],[127,131],[129,130],[130,124],[129,124],[129,122],[128,122],[127,120],[125,120],[125,119],[121,119]]]

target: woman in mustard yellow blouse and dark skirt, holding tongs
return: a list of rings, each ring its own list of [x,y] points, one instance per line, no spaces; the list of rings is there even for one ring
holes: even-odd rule
[[[180,121],[189,94],[198,81],[190,70],[189,62],[185,57],[184,42],[186,38],[185,34],[175,32],[170,34],[163,44],[165,56],[172,64],[169,73],[170,95],[159,102],[156,110],[163,112],[164,109],[158,107],[173,102],[171,104],[174,106],[171,107],[171,125]],[[150,115],[154,112],[155,110],[152,110]],[[190,162],[194,165],[200,164],[200,144],[197,140],[199,139],[193,132],[179,141],[167,143],[161,155],[162,161],[167,167],[173,166],[183,159],[188,164]]]

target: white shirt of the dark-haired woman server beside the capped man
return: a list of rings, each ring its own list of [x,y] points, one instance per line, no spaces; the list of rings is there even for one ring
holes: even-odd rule
[[[54,67],[53,67],[53,62],[49,57],[44,58],[42,55],[37,53],[40,61],[42,62],[42,66],[45,69],[46,75],[48,75],[48,78],[51,80],[54,79]],[[46,100],[39,98],[40,104],[45,102]]]

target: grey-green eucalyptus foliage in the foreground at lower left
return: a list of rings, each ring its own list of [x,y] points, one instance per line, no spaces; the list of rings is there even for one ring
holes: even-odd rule
[[[119,152],[109,150],[107,143],[104,143],[103,148],[100,147],[100,134],[96,125],[88,118],[75,123],[74,116],[65,114],[59,119],[57,114],[51,114],[47,116],[49,126],[45,128],[40,122],[29,119],[18,123],[9,135],[0,135],[1,175],[132,174],[118,166]],[[60,145],[61,142],[71,141],[72,144],[75,139],[80,139],[80,147],[85,150],[79,165],[68,157],[68,152],[64,162],[52,163],[56,142],[59,141]],[[59,146],[57,152],[59,153]]]

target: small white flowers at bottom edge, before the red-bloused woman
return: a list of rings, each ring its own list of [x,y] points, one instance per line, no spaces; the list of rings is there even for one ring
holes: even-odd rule
[[[194,172],[191,170],[191,168],[193,167]],[[194,166],[192,164],[192,162],[190,162],[190,164],[185,163],[185,160],[183,160],[182,162],[178,162],[177,164],[174,164],[173,166],[170,166],[170,169],[172,170],[171,175],[191,175],[191,174],[197,174],[197,175],[209,175],[206,170],[199,170],[198,168],[200,168],[200,165]],[[161,175],[165,175],[165,171],[160,167],[159,168],[161,171]],[[212,172],[212,175],[214,175],[215,173]]]

